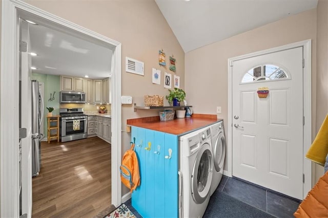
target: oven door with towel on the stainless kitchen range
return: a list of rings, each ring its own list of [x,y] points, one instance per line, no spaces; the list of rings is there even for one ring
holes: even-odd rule
[[[88,133],[87,120],[88,118],[61,120],[61,136]]]

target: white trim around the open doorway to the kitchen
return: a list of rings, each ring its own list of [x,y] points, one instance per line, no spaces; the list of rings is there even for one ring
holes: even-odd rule
[[[2,1],[0,74],[0,216],[18,217],[18,16],[41,17],[77,33],[95,38],[113,50],[112,66],[112,204],[121,204],[121,43],[80,27],[22,1]],[[17,146],[14,146],[16,145]]]

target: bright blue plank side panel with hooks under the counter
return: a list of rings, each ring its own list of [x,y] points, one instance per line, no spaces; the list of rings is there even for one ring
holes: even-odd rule
[[[178,217],[177,136],[132,126],[131,137],[140,170],[132,206],[143,217]]]

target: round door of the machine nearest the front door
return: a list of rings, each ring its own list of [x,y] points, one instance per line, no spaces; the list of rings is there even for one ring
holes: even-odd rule
[[[217,172],[219,172],[223,167],[224,158],[226,157],[226,138],[224,138],[223,132],[220,132],[216,138],[213,155],[214,168]]]

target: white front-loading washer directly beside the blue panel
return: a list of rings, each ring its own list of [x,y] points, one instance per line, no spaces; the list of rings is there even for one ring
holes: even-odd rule
[[[213,174],[211,129],[179,137],[179,217],[202,217]]]

